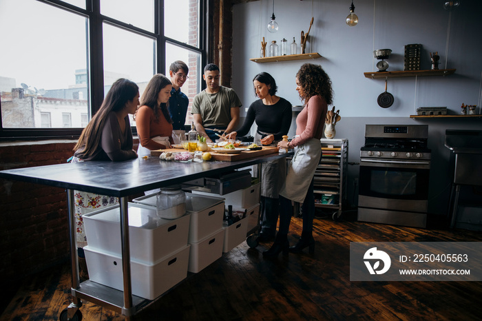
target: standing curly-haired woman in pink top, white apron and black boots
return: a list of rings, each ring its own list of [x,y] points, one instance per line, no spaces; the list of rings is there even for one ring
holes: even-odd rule
[[[305,63],[296,74],[296,90],[306,105],[296,118],[296,136],[291,142],[280,141],[278,149],[295,149],[295,155],[288,167],[286,180],[280,191],[280,227],[275,242],[268,251],[267,258],[276,257],[281,251],[294,253],[309,247],[315,250],[313,239],[313,218],[315,217],[315,197],[313,176],[322,157],[324,120],[328,105],[333,103],[331,80],[320,65]],[[297,244],[289,247],[288,231],[293,207],[291,201],[302,203],[303,229]]]

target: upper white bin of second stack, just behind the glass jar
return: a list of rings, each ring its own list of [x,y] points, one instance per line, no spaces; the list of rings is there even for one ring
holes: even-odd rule
[[[190,243],[199,242],[206,236],[222,229],[224,198],[212,195],[186,193],[186,213],[191,214],[188,237]],[[155,195],[143,196],[132,201],[141,205],[156,207]]]

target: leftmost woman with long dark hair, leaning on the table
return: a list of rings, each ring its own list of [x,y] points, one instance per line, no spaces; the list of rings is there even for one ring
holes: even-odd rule
[[[112,84],[105,99],[91,121],[82,131],[74,147],[72,163],[84,161],[126,161],[137,158],[132,149],[131,124],[129,114],[134,114],[139,106],[139,87],[128,79],[118,79]],[[74,191],[74,211],[76,221],[76,241],[81,277],[88,278],[83,247],[87,245],[83,227],[84,214],[118,205],[118,198],[86,191]]]

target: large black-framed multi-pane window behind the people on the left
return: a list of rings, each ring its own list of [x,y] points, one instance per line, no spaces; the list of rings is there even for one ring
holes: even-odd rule
[[[142,95],[175,60],[189,66],[181,90],[191,105],[205,63],[205,2],[1,0],[0,137],[78,136],[116,79],[135,81]]]

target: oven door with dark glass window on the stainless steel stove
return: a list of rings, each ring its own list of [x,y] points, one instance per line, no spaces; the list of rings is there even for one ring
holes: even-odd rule
[[[360,159],[359,207],[426,212],[430,161]]]

